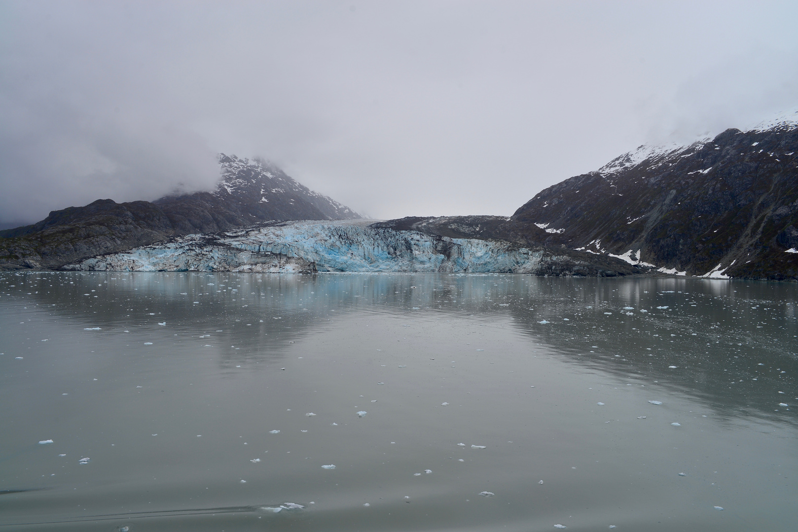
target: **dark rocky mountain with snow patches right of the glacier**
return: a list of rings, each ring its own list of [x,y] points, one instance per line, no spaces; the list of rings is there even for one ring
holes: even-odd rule
[[[663,273],[798,280],[798,114],[641,146],[540,191],[509,223]]]

